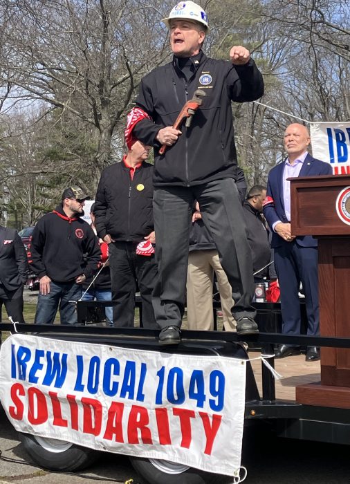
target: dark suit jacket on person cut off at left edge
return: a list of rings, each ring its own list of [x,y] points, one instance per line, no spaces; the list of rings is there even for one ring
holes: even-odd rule
[[[16,230],[0,225],[0,283],[8,291],[24,286],[28,278],[26,249]]]

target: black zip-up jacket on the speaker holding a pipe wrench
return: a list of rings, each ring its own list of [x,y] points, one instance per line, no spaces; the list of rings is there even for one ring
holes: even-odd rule
[[[233,66],[231,62],[210,59],[202,51],[190,59],[194,73],[188,82],[174,57],[142,79],[136,100],[154,121],[141,120],[133,133],[145,145],[155,146],[155,186],[201,185],[236,178],[231,101],[253,101],[264,93],[261,73],[252,59],[244,66]],[[203,90],[206,97],[194,114],[191,127],[186,128],[183,123],[177,142],[159,156],[158,131],[174,124],[196,89]]]

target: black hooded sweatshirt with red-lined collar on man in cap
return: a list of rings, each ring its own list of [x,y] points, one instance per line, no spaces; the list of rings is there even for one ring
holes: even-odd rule
[[[62,205],[57,205],[35,225],[28,259],[38,277],[71,283],[81,274],[86,278],[93,275],[101,260],[101,251],[89,223],[78,216],[68,218]]]

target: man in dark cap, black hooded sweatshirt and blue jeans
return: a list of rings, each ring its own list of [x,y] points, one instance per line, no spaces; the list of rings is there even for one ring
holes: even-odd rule
[[[28,253],[40,281],[35,324],[53,324],[58,307],[61,324],[77,324],[75,304],[70,301],[82,297],[82,283],[101,259],[93,230],[80,218],[86,198],[79,187],[65,189],[62,204],[35,225]]]

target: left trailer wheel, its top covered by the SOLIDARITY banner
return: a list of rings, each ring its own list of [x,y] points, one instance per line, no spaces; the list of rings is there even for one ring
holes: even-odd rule
[[[97,460],[99,453],[93,449],[57,440],[19,432],[26,452],[39,465],[54,471],[73,472],[84,469]]]

